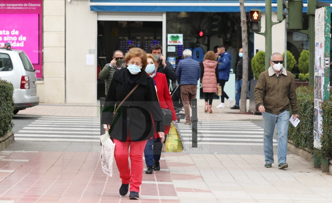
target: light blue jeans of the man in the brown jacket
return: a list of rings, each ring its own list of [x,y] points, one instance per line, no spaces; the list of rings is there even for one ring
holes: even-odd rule
[[[264,155],[265,163],[274,163],[273,159],[273,133],[277,124],[278,127],[278,165],[286,162],[287,156],[287,136],[290,112],[284,111],[276,115],[262,113],[264,120]]]

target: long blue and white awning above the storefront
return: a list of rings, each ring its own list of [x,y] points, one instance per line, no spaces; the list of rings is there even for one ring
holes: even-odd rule
[[[303,12],[307,12],[307,1],[303,1]],[[324,1],[332,3],[332,1]],[[265,1],[246,0],[246,12],[261,9],[265,12]],[[98,12],[240,12],[236,0],[90,0],[90,10]],[[277,1],[272,0],[272,12],[277,12]]]

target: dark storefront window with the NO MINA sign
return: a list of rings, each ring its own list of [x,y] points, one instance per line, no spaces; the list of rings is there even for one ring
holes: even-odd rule
[[[207,51],[216,53],[219,45],[228,48],[226,43],[234,48],[236,62],[239,60],[237,53],[242,47],[240,13],[167,12],[166,22],[167,59],[175,61],[174,67],[183,59],[185,49],[192,50],[193,59],[202,62]],[[249,41],[249,50],[250,56],[253,41]],[[202,88],[200,98],[204,98]]]

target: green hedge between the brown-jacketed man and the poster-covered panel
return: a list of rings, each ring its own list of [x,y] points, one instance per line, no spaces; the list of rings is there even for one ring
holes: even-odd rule
[[[296,94],[298,115],[301,122],[296,128],[291,124],[289,125],[288,139],[293,140],[293,145],[296,147],[308,148],[313,151],[314,90],[312,87],[300,86],[296,89]]]

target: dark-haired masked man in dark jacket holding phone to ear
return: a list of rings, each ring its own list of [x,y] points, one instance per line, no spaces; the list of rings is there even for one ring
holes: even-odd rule
[[[150,49],[150,54],[154,56],[156,59],[156,62],[154,65],[157,69],[158,73],[163,73],[166,75],[167,79],[167,85],[170,86],[169,80],[176,80],[176,72],[173,68],[172,64],[168,61],[166,61],[165,57],[161,54],[163,52],[163,48],[160,46],[160,44],[155,44]]]

